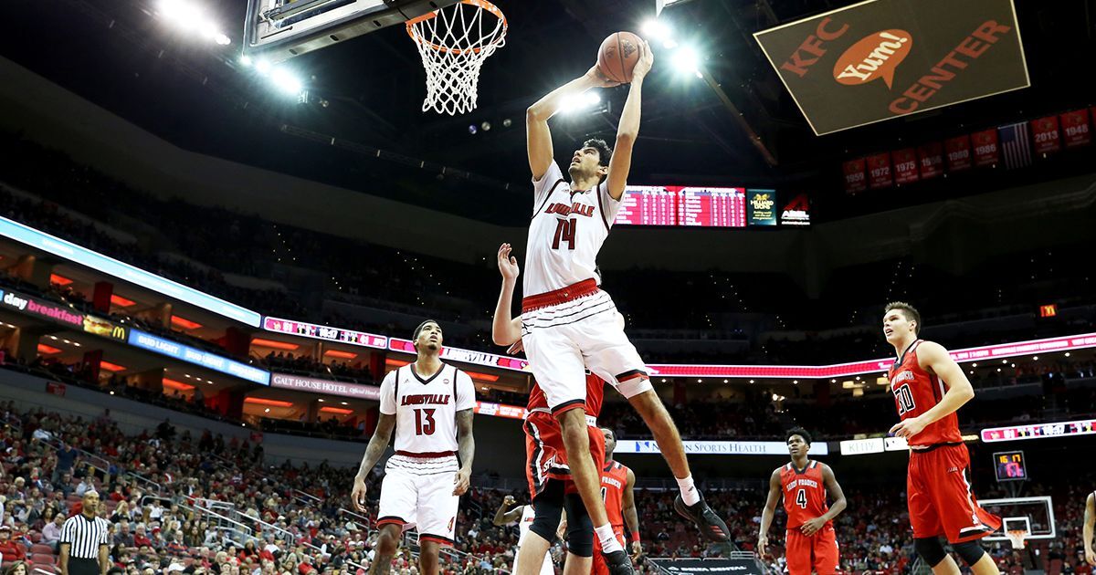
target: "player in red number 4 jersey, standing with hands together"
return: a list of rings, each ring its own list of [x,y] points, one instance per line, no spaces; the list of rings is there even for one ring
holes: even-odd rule
[[[833,518],[845,510],[845,493],[825,463],[807,459],[811,435],[802,427],[788,432],[791,463],[777,468],[768,480],[768,499],[761,514],[757,554],[764,556],[768,545],[768,527],[773,525],[776,502],[784,495],[788,514],[787,561],[791,575],[831,575],[837,571],[837,539]],[[829,492],[833,506],[826,507]]]

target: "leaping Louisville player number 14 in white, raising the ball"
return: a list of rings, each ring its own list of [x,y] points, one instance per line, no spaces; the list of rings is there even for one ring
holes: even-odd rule
[[[631,571],[613,536],[598,493],[597,468],[590,460],[583,373],[586,368],[613,384],[640,414],[677,479],[681,496],[674,508],[716,541],[729,541],[727,525],[693,483],[677,428],[654,393],[636,347],[617,322],[613,299],[598,289],[597,252],[608,237],[631,169],[639,133],[643,79],[653,64],[646,44],[632,70],[620,114],[616,152],[602,140],[586,140],[571,156],[571,182],[552,159],[548,119],[561,103],[595,87],[615,85],[592,67],[557,88],[526,113],[527,151],[533,172],[534,209],[525,257],[522,341],[533,373],[559,418],[571,472],[594,522],[596,538],[610,555],[614,573]]]

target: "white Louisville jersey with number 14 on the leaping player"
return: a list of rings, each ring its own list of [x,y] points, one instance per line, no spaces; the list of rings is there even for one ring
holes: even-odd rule
[[[533,181],[533,222],[525,254],[525,297],[553,291],[586,279],[602,283],[597,252],[620,209],[604,182],[572,193],[559,164],[552,162]]]

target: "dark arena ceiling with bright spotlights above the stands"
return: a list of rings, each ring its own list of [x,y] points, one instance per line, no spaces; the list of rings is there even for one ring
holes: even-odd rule
[[[526,209],[525,108],[584,71],[605,35],[638,30],[653,12],[653,2],[637,0],[499,0],[511,24],[507,44],[483,67],[478,110],[454,118],[420,112],[424,73],[402,26],[289,60],[309,92],[301,104],[239,65],[246,1],[205,3],[232,45],[173,31],[155,15],[155,0],[41,0],[10,7],[0,55],[180,147],[500,222],[516,222],[513,215]],[[680,73],[657,49],[631,181],[840,194],[840,164],[850,154],[1092,103],[1081,62],[1096,53],[1096,2],[1017,0],[1031,88],[817,137],[752,34],[848,3],[669,7],[663,19],[675,39],[697,47],[711,81]],[[608,113],[556,120],[557,151],[587,136],[610,138],[626,90],[605,94]],[[324,143],[330,138],[392,156],[334,149]],[[486,215],[475,207],[484,205]]]

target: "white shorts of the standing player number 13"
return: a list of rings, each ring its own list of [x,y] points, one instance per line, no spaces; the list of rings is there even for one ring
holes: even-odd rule
[[[385,465],[380,483],[377,527],[399,525],[415,528],[419,543],[436,541],[453,545],[460,497],[453,494],[456,456],[419,458],[393,455]]]

